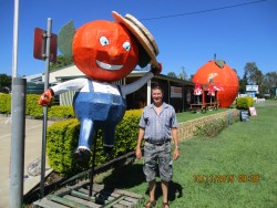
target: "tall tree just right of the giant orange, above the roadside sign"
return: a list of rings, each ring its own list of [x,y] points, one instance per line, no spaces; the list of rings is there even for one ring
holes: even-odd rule
[[[260,85],[264,75],[255,62],[247,62],[244,67],[244,77],[246,79],[247,84]]]

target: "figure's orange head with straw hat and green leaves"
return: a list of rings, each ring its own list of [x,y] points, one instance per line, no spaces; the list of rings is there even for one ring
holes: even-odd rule
[[[150,31],[134,17],[112,12],[115,22],[96,20],[75,30],[70,21],[59,32],[58,44],[65,56],[89,79],[113,82],[125,77],[138,64],[156,61],[158,48]]]

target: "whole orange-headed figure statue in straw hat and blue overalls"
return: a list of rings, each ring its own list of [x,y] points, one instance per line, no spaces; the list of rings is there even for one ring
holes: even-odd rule
[[[126,111],[126,95],[137,91],[162,70],[156,61],[158,48],[154,37],[133,15],[112,12],[113,21],[95,20],[75,29],[73,22],[59,32],[60,51],[73,59],[86,77],[73,79],[48,89],[40,105],[48,105],[54,95],[75,91],[74,113],[80,121],[78,148],[73,156],[86,167],[91,158],[94,133],[102,129],[103,149],[110,157],[115,142],[115,126]],[[114,83],[130,74],[136,65],[151,70],[141,79],[120,85]]]

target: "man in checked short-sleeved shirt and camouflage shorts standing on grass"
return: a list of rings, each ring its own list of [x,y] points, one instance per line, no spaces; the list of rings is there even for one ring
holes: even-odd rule
[[[145,106],[140,119],[140,132],[136,145],[136,158],[142,157],[142,141],[144,145],[144,167],[143,171],[150,187],[150,200],[145,205],[151,208],[155,205],[156,189],[156,167],[160,170],[160,177],[163,191],[163,207],[170,207],[168,204],[168,181],[172,179],[172,159],[171,141],[174,141],[175,150],[173,159],[179,157],[177,118],[172,105],[163,102],[163,90],[156,85],[151,91],[153,103]]]

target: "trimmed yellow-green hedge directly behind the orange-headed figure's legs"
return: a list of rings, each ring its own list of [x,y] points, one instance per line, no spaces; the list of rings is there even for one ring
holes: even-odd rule
[[[114,149],[112,157],[109,159],[113,159],[135,149],[138,134],[137,123],[141,114],[142,110],[126,111],[125,116],[116,126]],[[47,154],[49,165],[61,175],[72,175],[83,170],[72,155],[78,147],[79,132],[80,123],[76,118],[57,122],[48,128]],[[95,165],[100,165],[107,162],[104,157],[101,129],[99,131],[96,139]],[[94,142],[92,143],[94,144]],[[92,150],[93,144],[91,147]]]

